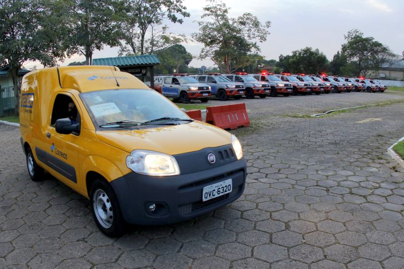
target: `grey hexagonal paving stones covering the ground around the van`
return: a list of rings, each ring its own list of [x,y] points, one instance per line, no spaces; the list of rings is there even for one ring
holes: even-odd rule
[[[240,199],[119,239],[98,231],[88,201],[68,187],[31,182],[18,128],[0,125],[0,268],[402,268],[404,170],[386,149],[404,134],[403,107],[253,116],[232,131],[248,162]]]

